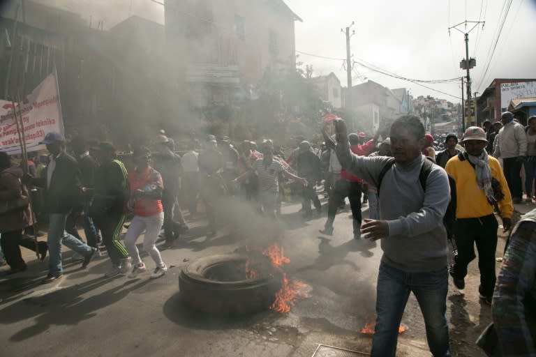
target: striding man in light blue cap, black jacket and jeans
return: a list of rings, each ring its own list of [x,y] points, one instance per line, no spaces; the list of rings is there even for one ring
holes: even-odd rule
[[[27,175],[24,181],[45,188],[45,209],[49,213],[48,225],[48,274],[43,284],[63,278],[61,266],[61,244],[84,257],[82,268],[86,268],[97,252],[65,231],[67,216],[82,199],[80,169],[71,155],[65,152],[65,139],[59,132],[49,132],[39,144],[45,144],[50,153],[50,164],[45,177]]]

